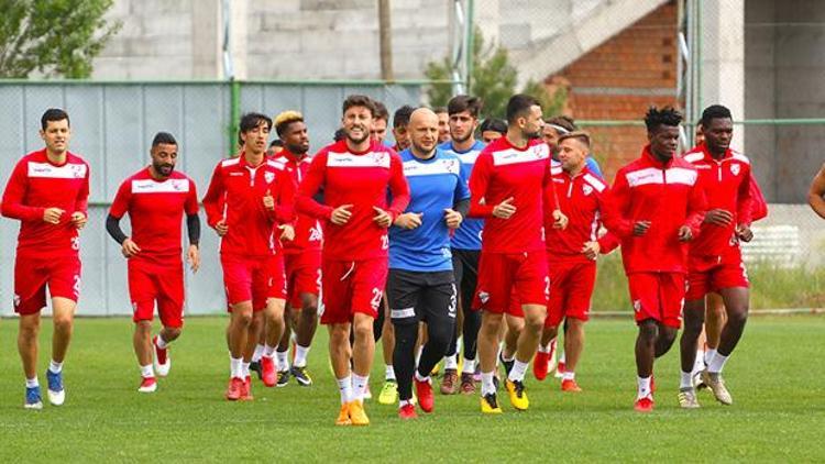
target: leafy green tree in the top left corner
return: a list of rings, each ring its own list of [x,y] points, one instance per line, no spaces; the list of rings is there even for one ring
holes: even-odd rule
[[[103,14],[113,0],[0,0],[0,77],[85,78],[120,30]]]

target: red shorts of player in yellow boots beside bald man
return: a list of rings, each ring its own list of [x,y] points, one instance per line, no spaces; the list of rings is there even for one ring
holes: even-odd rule
[[[547,305],[550,280],[543,250],[484,253],[479,258],[474,310],[524,317],[521,305]]]

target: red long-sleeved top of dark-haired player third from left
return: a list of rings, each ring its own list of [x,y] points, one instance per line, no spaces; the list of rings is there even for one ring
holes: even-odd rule
[[[264,207],[270,192],[275,209]],[[241,153],[237,158],[218,163],[204,197],[207,223],[224,220],[229,228],[221,240],[221,254],[266,256],[280,247],[276,229],[293,219],[295,185],[279,163],[264,158],[251,166]]]

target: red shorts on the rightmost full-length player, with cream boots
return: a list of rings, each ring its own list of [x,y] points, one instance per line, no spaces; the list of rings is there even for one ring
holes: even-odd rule
[[[723,256],[690,256],[688,263],[688,301],[701,300],[711,291],[718,294],[722,288],[750,287],[738,247]]]

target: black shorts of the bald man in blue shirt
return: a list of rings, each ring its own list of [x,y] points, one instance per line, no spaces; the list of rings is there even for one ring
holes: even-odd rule
[[[455,279],[451,270],[389,269],[387,299],[394,324],[452,323],[455,320]]]

